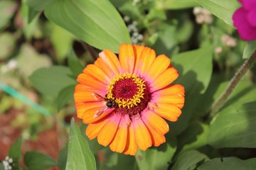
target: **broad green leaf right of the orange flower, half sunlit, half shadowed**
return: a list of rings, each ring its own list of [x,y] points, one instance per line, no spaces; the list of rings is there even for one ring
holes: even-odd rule
[[[185,105],[176,123],[171,123],[177,134],[186,129],[191,115],[201,95],[206,91],[213,71],[213,48],[204,47],[199,50],[182,52],[172,58],[171,62],[180,73],[175,84],[185,87]]]

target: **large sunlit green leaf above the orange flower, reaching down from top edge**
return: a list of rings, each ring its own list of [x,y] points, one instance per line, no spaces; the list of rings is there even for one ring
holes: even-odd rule
[[[131,42],[124,21],[107,0],[53,1],[45,14],[53,23],[100,50],[119,52],[119,45]]]

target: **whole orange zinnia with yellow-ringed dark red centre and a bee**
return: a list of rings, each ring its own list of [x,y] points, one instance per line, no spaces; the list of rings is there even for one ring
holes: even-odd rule
[[[131,155],[164,143],[163,118],[176,121],[184,103],[183,86],[169,85],[178,77],[170,62],[142,45],[121,45],[119,60],[110,50],[100,52],[78,76],[74,94],[90,140]]]

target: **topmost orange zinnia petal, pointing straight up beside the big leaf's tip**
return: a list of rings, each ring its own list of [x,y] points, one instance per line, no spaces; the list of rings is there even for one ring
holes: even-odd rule
[[[132,45],[130,44],[123,44],[120,45],[119,48],[119,60],[122,66],[123,73],[128,72],[132,73],[134,69],[134,50]]]

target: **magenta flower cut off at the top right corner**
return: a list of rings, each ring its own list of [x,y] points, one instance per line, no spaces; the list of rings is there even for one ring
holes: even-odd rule
[[[234,26],[242,40],[256,40],[256,0],[238,0],[242,4],[233,15]]]

